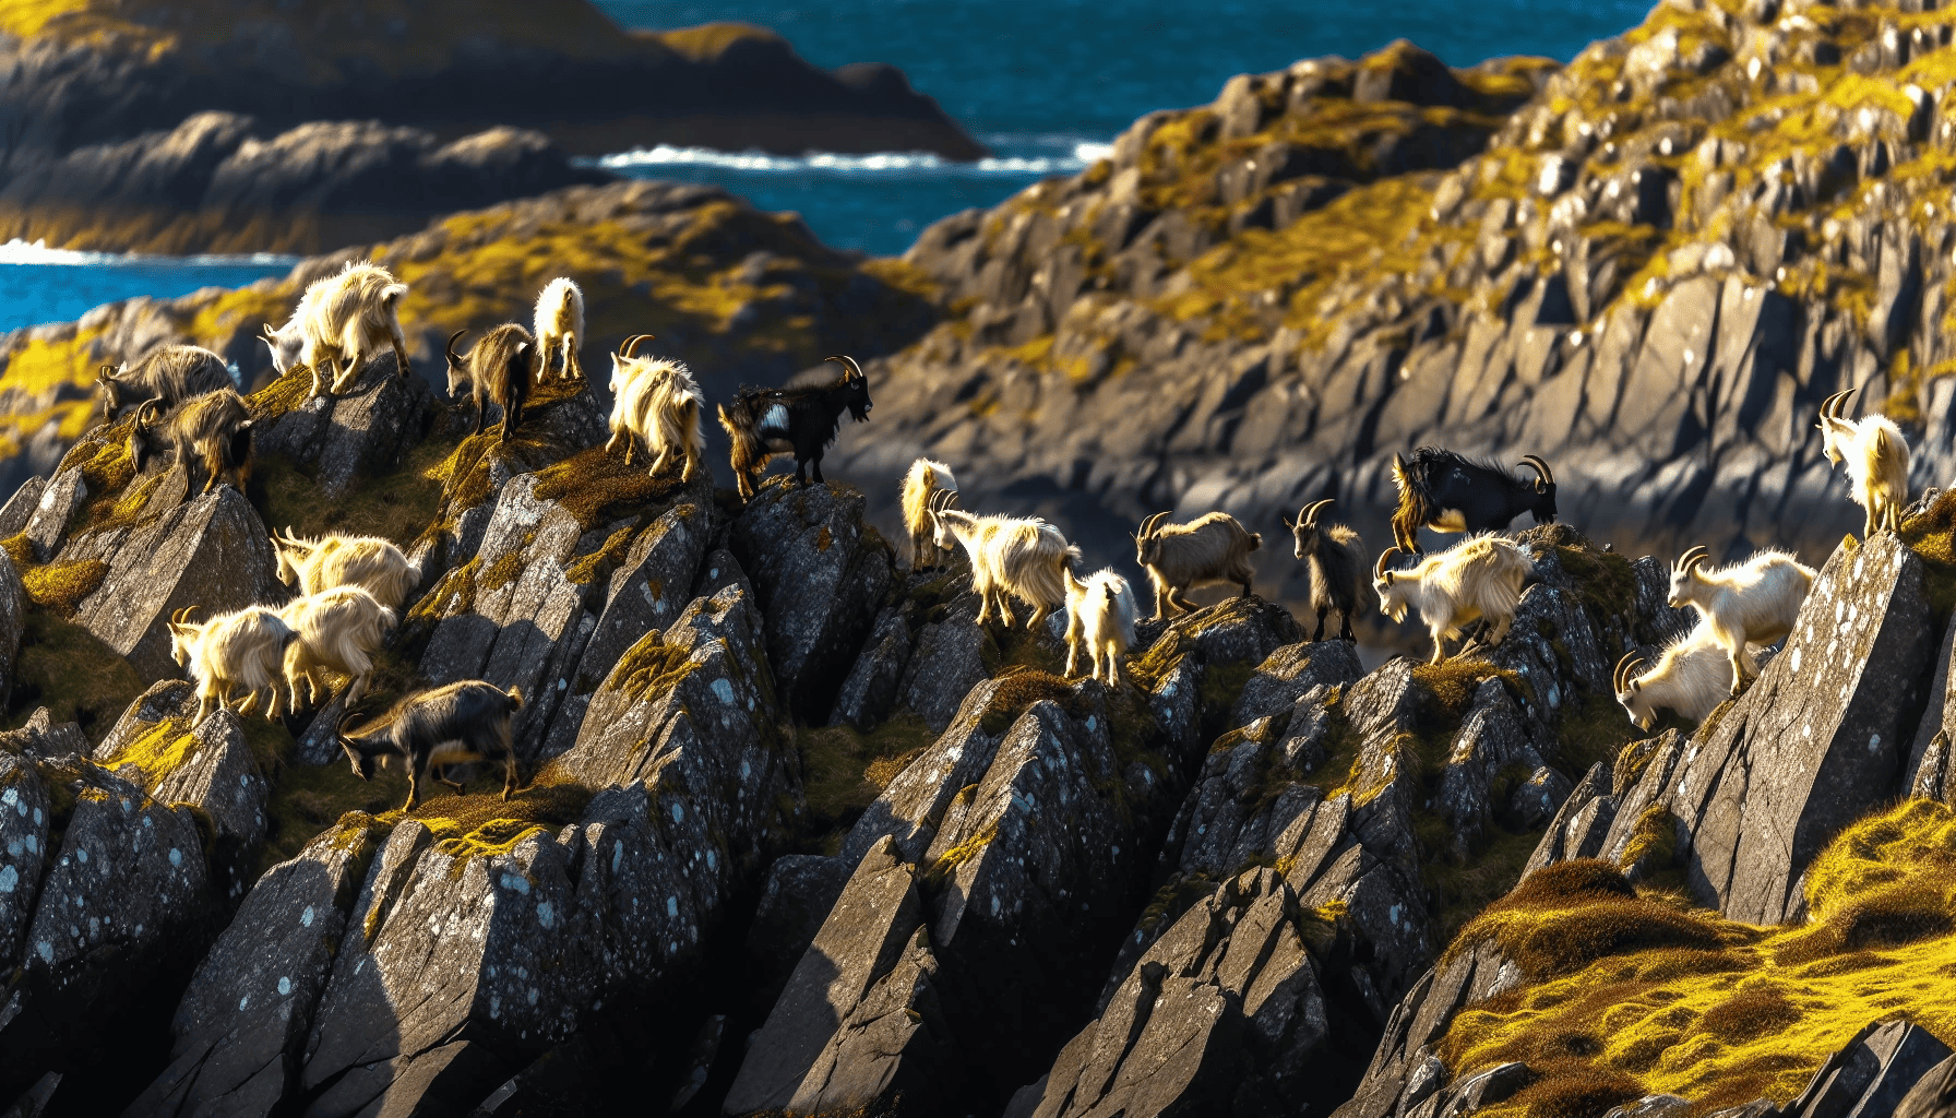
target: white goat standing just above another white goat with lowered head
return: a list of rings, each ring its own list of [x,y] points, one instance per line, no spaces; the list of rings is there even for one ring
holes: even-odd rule
[[[1670,607],[1690,605],[1712,629],[1731,660],[1731,693],[1737,695],[1753,677],[1745,646],[1786,638],[1819,572],[1782,550],[1762,550],[1715,570],[1704,570],[1708,558],[1704,546],[1678,556],[1670,568]]]

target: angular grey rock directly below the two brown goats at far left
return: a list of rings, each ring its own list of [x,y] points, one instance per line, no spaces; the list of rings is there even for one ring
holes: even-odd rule
[[[129,658],[145,677],[174,675],[170,613],[196,605],[200,619],[258,603],[280,603],[272,540],[237,489],[219,486],[135,529],[68,540],[59,562],[102,560],[102,585],[82,599],[76,621]]]

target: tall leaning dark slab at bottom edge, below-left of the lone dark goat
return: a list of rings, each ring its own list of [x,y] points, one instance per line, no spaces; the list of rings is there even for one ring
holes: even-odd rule
[[[170,1067],[131,1114],[270,1114],[291,1089],[374,854],[370,820],[329,828],[252,885],[170,1022]]]

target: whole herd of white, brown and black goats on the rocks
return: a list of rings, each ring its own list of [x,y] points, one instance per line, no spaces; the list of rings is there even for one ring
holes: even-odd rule
[[[409,376],[407,345],[397,309],[407,286],[370,262],[346,264],[338,274],[307,286],[284,327],[264,327],[280,376],[311,372],[311,392],[342,394],[358,380],[370,354],[393,349],[395,370]],[[467,396],[481,435],[487,405],[503,411],[499,439],[522,423],[532,382],[552,376],[585,380],[579,345],[585,333],[583,292],[565,278],[552,280],[538,298],[534,331],[520,323],[491,329],[467,354],[456,352],[466,331],[456,331],[444,354],[448,394]],[[604,452],[622,450],[630,466],[644,446],[649,474],[677,464],[690,482],[704,456],[700,433],[706,403],[685,364],[638,356],[651,335],[628,339],[612,354],[610,441]],[[833,444],[841,417],[870,413],[868,378],[847,356],[833,384],[800,388],[741,388],[718,407],[732,441],[732,466],[741,499],[753,499],[757,482],[775,454],[792,454],[796,484],[812,468],[822,482],[822,456]],[[331,376],[329,376],[331,374]],[[127,452],[137,472],[168,456],[182,464],[192,484],[203,474],[203,491],[219,482],[243,489],[252,456],[252,417],[215,352],[172,345],[135,368],[104,366],[98,378],[104,417],[137,407]],[[1846,464],[1852,499],[1866,511],[1864,533],[1895,531],[1907,503],[1909,446],[1882,415],[1845,419],[1850,394],[1829,396],[1819,411],[1827,460]],[[1553,523],[1555,476],[1530,454],[1522,462],[1534,478],[1473,462],[1451,450],[1422,446],[1393,458],[1399,507],[1393,513],[1395,546],[1369,566],[1379,611],[1395,623],[1416,613],[1426,625],[1432,662],[1445,658],[1447,640],[1485,621],[1485,642],[1498,644],[1514,621],[1524,583],[1534,572],[1528,548],[1498,535],[1522,513]],[[1050,523],[1037,517],[980,515],[956,507],[958,486],[943,462],[919,458],[902,482],[902,515],[910,533],[911,570],[947,564],[958,550],[970,560],[972,587],[980,597],[978,623],[996,611],[1011,627],[1011,601],[1031,609],[1027,629],[1037,630],[1060,607],[1068,613],[1066,675],[1078,674],[1086,652],[1089,674],[1109,685],[1121,681],[1121,656],[1134,644],[1138,605],[1134,589],[1113,570],[1082,578],[1082,552]],[[1365,544],[1346,525],[1322,523],[1330,499],[1283,517],[1293,554],[1311,580],[1316,613],[1312,640],[1324,638],[1324,619],[1338,611],[1340,640],[1356,640],[1352,617],[1365,585]],[[1418,531],[1467,533],[1459,544],[1422,554]],[[1228,513],[1207,513],[1189,523],[1168,523],[1156,513],[1134,531],[1134,560],[1154,591],[1154,619],[1195,609],[1187,591],[1207,583],[1252,591],[1250,554],[1262,535]],[[227,705],[237,691],[239,711],[250,713],[268,695],[266,715],[319,703],[327,693],[323,672],[350,679],[344,701],[358,701],[372,679],[374,656],[395,625],[421,570],[393,542],[378,536],[333,535],[319,540],[274,535],[278,576],[299,589],[286,605],[254,605],[209,621],[192,621],[196,607],[170,619],[172,656],[198,683],[198,719]],[[1412,562],[1399,560],[1410,552]],[[1813,585],[1815,572],[1794,556],[1764,550],[1753,558],[1708,566],[1706,548],[1692,548],[1670,570],[1672,607],[1692,607],[1698,625],[1667,646],[1655,668],[1635,652],[1616,666],[1616,699],[1631,722],[1649,730],[1657,713],[1676,711],[1700,722],[1756,674],[1762,648],[1786,638]],[[1469,642],[1459,654],[1473,648]],[[301,697],[303,691],[303,697]],[[364,730],[352,715],[336,726],[340,748],[354,773],[370,777],[376,762],[389,758],[409,773],[407,807],[421,799],[421,777],[446,766],[501,762],[505,799],[516,787],[511,722],[522,705],[516,689],[466,679],[417,691]],[[442,773],[446,775],[446,773]],[[446,781],[444,783],[452,783]],[[458,785],[460,787],[460,785]]]

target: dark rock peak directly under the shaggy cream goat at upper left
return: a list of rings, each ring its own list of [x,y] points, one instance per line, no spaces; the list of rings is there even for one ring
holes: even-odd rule
[[[311,370],[291,376],[309,378]],[[393,350],[381,349],[368,356],[346,394],[313,396],[268,423],[256,423],[252,450],[284,456],[305,470],[321,497],[338,499],[362,476],[393,468],[422,437],[434,407],[428,382],[413,370],[397,376]]]

